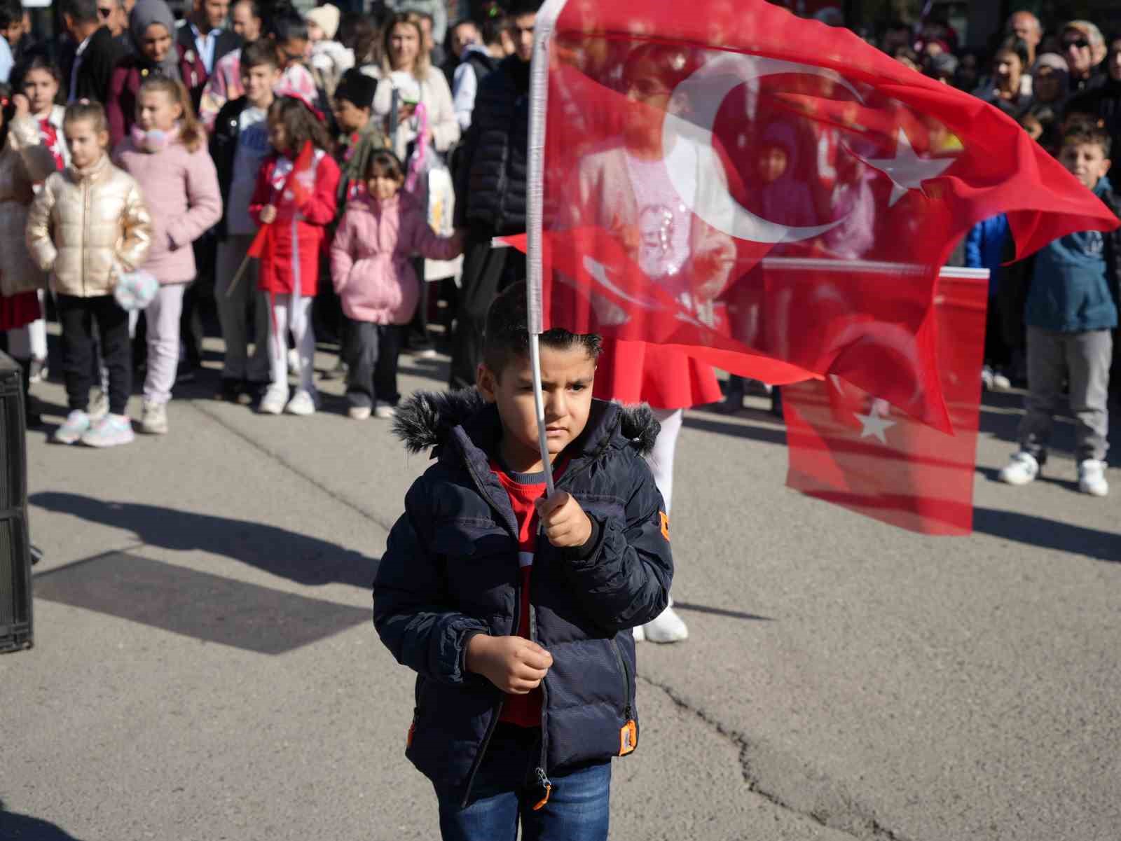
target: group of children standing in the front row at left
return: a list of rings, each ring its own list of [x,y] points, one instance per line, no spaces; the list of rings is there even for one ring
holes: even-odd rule
[[[137,26],[164,26],[161,6],[138,4]],[[332,137],[322,91],[306,84],[287,46],[262,38],[242,47],[240,95],[224,102],[209,132],[188,87],[158,69],[135,74],[132,112],[115,120],[120,99],[109,109],[54,104],[59,72],[43,58],[4,101],[0,216],[15,247],[0,265],[0,329],[28,372],[33,361],[41,366],[44,290],[53,279],[70,404],[53,440],[132,440],[126,404],[140,311],[147,356],[139,430],[168,431],[184,292],[201,270],[193,244],[215,227],[225,344],[219,396],[249,395],[265,414],[314,413],[312,303],[321,283],[333,282],[346,317],[350,417],[392,415],[402,326],[421,297],[411,258],[453,259],[462,237],[436,235],[423,199],[405,189],[406,165],[372,115],[378,81],[350,69],[333,82]],[[108,401],[91,405],[95,384]]]

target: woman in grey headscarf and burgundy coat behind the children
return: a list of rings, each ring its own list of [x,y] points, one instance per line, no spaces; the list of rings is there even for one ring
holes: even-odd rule
[[[128,137],[136,122],[137,92],[149,76],[182,82],[194,90],[206,78],[202,57],[175,40],[175,16],[164,0],[138,0],[129,13],[136,52],[118,62],[109,83],[105,114],[110,143]]]

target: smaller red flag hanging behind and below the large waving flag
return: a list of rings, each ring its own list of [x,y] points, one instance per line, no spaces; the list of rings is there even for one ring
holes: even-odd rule
[[[953,434],[835,375],[797,383],[782,389],[787,484],[911,531],[969,534],[986,302],[985,280],[938,281],[937,353]]]

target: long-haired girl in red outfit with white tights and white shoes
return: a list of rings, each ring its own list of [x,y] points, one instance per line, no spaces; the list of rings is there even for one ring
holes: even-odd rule
[[[272,384],[261,398],[266,414],[313,414],[316,407],[314,372],[315,334],[312,302],[319,273],[319,250],[326,226],[335,217],[339,166],[326,149],[331,138],[318,112],[296,95],[277,92],[269,108],[269,143],[274,151],[261,163],[249,215],[271,225],[261,252],[258,287],[269,293],[269,363]],[[313,147],[311,167],[293,170],[306,143]],[[289,180],[291,178],[293,180]],[[302,196],[306,199],[297,204]],[[288,399],[287,331],[299,355],[299,387]]]

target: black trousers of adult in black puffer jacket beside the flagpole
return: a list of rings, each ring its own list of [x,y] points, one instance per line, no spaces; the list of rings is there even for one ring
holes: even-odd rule
[[[526,282],[526,255],[516,249],[492,249],[490,237],[467,240],[463,252],[463,288],[452,337],[452,389],[475,384],[483,358],[483,327],[494,297],[511,283]]]

